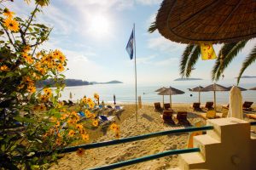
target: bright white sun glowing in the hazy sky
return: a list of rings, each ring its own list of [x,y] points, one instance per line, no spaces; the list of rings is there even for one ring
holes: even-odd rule
[[[108,37],[110,34],[110,20],[107,15],[94,15],[90,17],[89,32],[93,37]]]

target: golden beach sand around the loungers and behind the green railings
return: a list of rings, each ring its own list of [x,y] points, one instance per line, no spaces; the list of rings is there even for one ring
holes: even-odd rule
[[[175,128],[183,128],[182,126],[166,125],[160,118],[160,113],[154,112],[153,105],[143,105],[138,111],[138,122],[136,122],[134,105],[124,105],[124,111],[118,114],[112,112],[110,114],[116,116],[116,122],[119,123],[121,129],[121,138],[135,136],[145,133],[153,133],[165,131]],[[219,107],[218,107],[219,108]],[[188,120],[191,124],[202,121],[206,123],[199,115],[201,112],[195,112],[189,109],[188,104],[173,105],[174,111],[188,111]],[[247,121],[252,121],[245,118]],[[177,122],[177,120],[175,120]],[[114,133],[110,130],[103,133],[99,127],[91,142],[99,142],[114,139]],[[151,139],[139,140],[136,142],[116,144],[108,147],[86,150],[84,156],[77,156],[76,152],[65,154],[59,160],[58,165],[52,165],[50,169],[88,169],[91,167],[99,167],[119,161],[125,161],[141,156],[148,156],[160,153],[165,150],[184,149],[187,147],[189,133],[166,135]],[[144,161],[135,165],[121,167],[119,169],[143,169],[143,170],[160,170],[170,167],[177,167],[177,156],[166,156],[153,161]]]

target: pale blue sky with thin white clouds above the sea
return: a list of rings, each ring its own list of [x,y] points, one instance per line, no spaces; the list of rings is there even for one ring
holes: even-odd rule
[[[26,19],[34,6],[32,3],[27,6],[17,0],[4,5]],[[135,23],[137,83],[172,82],[180,77],[179,60],[186,45],[171,42],[158,31],[148,33],[160,3],[161,0],[51,0],[43,13],[37,15],[38,22],[53,27],[49,41],[41,48],[60,49],[66,55],[67,78],[134,83],[134,59],[129,58],[125,47]],[[255,42],[248,42],[224,71],[226,81],[236,82],[234,77],[240,71],[241,62]],[[213,47],[218,52],[220,45]],[[191,77],[210,80],[214,60],[199,60]],[[244,76],[256,76],[255,69],[254,63]]]

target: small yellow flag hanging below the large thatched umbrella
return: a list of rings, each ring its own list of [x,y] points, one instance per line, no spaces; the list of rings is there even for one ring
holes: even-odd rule
[[[216,59],[217,58],[217,56],[214,52],[214,49],[212,47],[212,43],[201,42],[200,47],[201,47],[201,59],[206,60],[206,59]]]

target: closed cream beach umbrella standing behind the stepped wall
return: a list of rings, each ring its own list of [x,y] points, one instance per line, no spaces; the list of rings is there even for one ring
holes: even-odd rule
[[[230,107],[228,116],[243,119],[241,90],[236,86],[233,86],[230,90]]]

